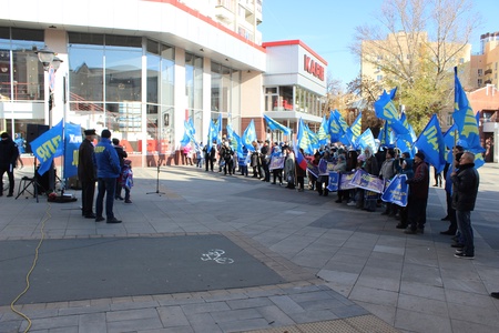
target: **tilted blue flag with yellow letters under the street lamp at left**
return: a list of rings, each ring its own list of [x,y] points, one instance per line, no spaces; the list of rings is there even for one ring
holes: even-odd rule
[[[62,120],[31,142],[31,150],[34,157],[40,161],[38,173],[45,173],[54,158],[62,155]]]

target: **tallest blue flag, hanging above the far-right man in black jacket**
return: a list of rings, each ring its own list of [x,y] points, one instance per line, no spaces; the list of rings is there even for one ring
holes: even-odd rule
[[[478,130],[477,119],[475,112],[469,104],[465,90],[457,75],[457,67],[454,68],[455,75],[455,91],[454,91],[454,113],[452,118],[459,131],[459,139],[465,141],[467,149],[476,153],[483,152],[485,149],[480,145],[480,133]]]

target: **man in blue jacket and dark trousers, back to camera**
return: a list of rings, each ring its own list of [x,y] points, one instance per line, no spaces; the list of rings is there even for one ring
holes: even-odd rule
[[[120,176],[121,168],[116,150],[111,144],[111,131],[102,130],[101,141],[95,145],[93,154],[98,174],[98,198],[95,202],[95,222],[104,221],[103,202],[105,194],[105,216],[108,223],[121,223],[113,213],[114,194],[116,190],[116,178]]]

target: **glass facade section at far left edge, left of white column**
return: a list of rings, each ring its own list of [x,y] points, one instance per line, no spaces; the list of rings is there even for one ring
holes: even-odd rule
[[[0,100],[32,101],[39,107],[32,119],[16,119],[6,112],[0,131],[21,133],[26,138],[28,123],[44,122],[44,71],[37,50],[43,48],[43,31],[0,27]]]

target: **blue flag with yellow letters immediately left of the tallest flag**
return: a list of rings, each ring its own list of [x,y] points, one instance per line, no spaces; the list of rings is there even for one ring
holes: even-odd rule
[[[434,165],[437,173],[444,170],[446,165],[446,144],[444,143],[444,134],[441,133],[437,114],[431,117],[421,134],[419,134],[418,140],[416,140],[415,145],[425,153],[425,161]]]

